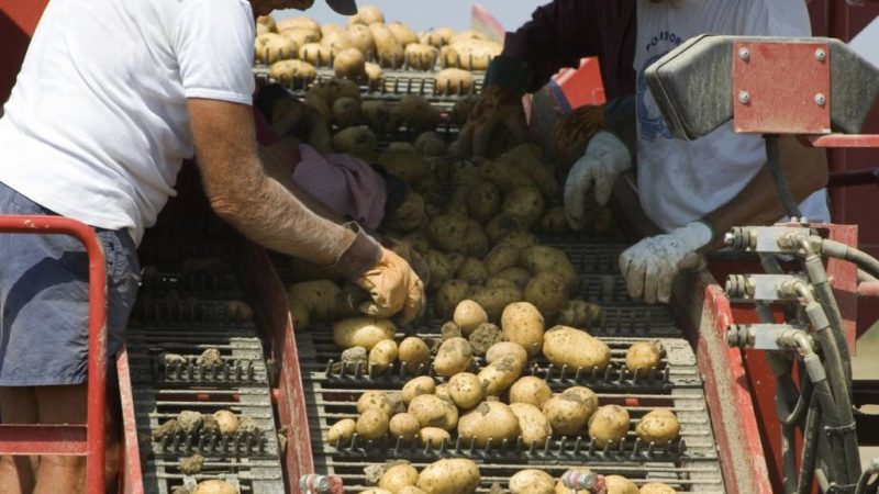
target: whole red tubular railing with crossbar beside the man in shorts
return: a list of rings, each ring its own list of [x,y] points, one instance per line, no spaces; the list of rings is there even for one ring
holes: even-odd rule
[[[0,454],[86,456],[87,492],[104,492],[107,408],[107,268],[103,246],[88,225],[59,216],[0,216],[0,232],[75,237],[89,257],[89,368],[87,424],[0,425]]]

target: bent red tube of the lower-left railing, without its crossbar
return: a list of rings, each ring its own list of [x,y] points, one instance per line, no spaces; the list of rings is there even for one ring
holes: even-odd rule
[[[0,232],[13,234],[60,234],[77,238],[86,246],[89,256],[89,369],[88,369],[88,417],[86,431],[87,473],[86,487],[89,493],[104,492],[105,427],[107,409],[107,267],[103,246],[94,231],[85,223],[60,216],[0,216]],[[0,426],[8,428],[11,426]],[[36,427],[36,426],[33,426]],[[48,426],[56,430],[59,440],[74,442],[60,437],[65,429]],[[36,430],[36,429],[33,429]],[[37,437],[34,437],[37,440]],[[81,447],[81,439],[78,440]],[[44,442],[44,446],[49,446]],[[74,446],[71,446],[74,448]],[[31,453],[54,454],[52,450],[31,450]],[[7,452],[0,450],[0,452]],[[12,454],[13,452],[9,452]],[[79,453],[78,453],[79,454]]]

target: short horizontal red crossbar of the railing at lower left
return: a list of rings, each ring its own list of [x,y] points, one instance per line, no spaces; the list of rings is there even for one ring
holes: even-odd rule
[[[7,424],[0,427],[3,454],[87,453],[86,427],[67,425]]]

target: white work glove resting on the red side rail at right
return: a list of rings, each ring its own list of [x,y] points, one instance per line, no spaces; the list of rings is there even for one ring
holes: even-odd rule
[[[645,238],[625,249],[620,256],[620,270],[628,295],[644,299],[648,304],[667,303],[675,276],[681,269],[697,267],[697,250],[708,245],[712,237],[708,224],[693,222],[669,234]]]

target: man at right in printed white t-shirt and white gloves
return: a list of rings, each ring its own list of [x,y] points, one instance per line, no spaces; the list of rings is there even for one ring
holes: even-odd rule
[[[641,205],[665,235],[645,238],[620,257],[620,268],[633,297],[668,302],[677,272],[700,249],[717,247],[716,234],[744,224],[768,224],[783,215],[765,166],[760,136],[735,134],[728,123],[687,142],[671,136],[644,79],[644,70],[683,41],[703,33],[730,35],[809,36],[803,0],[638,0],[637,42],[637,178]],[[781,161],[793,195],[810,221],[830,221],[826,156],[780,138]],[[576,217],[587,191],[600,203],[611,186],[632,166],[620,139],[600,132],[574,166],[566,182],[566,210]],[[569,214],[570,216],[570,214]]]

